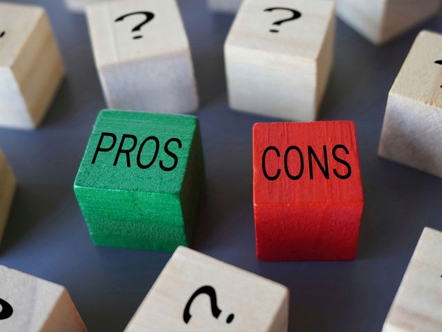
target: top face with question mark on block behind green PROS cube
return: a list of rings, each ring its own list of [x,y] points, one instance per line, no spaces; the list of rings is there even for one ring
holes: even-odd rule
[[[189,50],[175,0],[126,0],[86,8],[97,67]]]

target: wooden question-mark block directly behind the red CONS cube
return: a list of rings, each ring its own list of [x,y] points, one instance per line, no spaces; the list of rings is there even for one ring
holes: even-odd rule
[[[332,68],[334,35],[332,1],[244,0],[224,45],[230,107],[314,120]]]

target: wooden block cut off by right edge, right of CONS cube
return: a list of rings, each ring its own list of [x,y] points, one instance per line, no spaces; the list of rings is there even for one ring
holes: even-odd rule
[[[423,31],[388,95],[379,156],[442,176],[442,35]]]

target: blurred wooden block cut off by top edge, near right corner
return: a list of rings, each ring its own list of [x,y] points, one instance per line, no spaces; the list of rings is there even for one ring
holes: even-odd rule
[[[384,44],[436,15],[440,0],[336,0],[338,17],[373,44]]]

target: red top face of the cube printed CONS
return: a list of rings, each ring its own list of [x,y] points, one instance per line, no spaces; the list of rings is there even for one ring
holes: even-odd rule
[[[255,124],[253,202],[363,204],[354,122]]]

